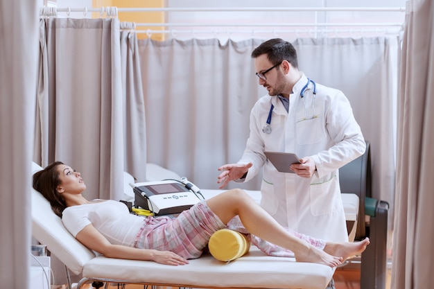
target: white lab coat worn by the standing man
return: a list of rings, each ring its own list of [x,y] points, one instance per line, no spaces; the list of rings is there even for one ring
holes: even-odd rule
[[[289,112],[277,96],[267,95],[257,101],[250,113],[250,137],[238,163],[253,164],[245,182],[263,167],[261,206],[281,225],[316,238],[347,241],[338,168],[363,155],[365,140],[342,91],[317,83],[314,111],[312,83],[304,91],[306,104],[300,97],[307,82],[303,75],[293,87]],[[272,132],[266,134],[262,128],[271,104],[275,106]],[[313,115],[318,117],[309,119]],[[313,157],[317,171],[310,179],[279,173],[264,150]]]

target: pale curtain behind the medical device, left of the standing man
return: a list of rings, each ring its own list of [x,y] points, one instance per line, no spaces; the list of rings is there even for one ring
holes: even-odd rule
[[[217,168],[241,157],[263,94],[250,58],[260,43],[139,40],[150,163],[216,189]]]

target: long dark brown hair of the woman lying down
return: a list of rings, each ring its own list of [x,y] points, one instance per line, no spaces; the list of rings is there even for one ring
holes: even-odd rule
[[[55,161],[43,170],[33,174],[33,189],[40,192],[51,204],[54,213],[62,218],[62,212],[67,208],[62,194],[58,193],[57,187],[60,185],[59,172],[57,167],[63,164]]]

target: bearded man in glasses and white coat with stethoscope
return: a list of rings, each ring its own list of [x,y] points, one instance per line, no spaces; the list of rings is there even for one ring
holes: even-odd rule
[[[281,225],[333,242],[347,241],[338,169],[365,152],[349,101],[298,70],[297,52],[281,39],[252,52],[259,85],[268,95],[250,114],[250,137],[237,164],[218,168],[220,189],[248,182],[263,168],[261,206]],[[280,173],[264,151],[294,152],[295,173]]]

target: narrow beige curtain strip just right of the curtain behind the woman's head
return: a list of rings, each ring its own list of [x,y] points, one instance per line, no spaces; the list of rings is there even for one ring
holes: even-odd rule
[[[124,24],[125,25],[125,24]],[[146,181],[146,119],[137,34],[121,30],[124,170]]]

